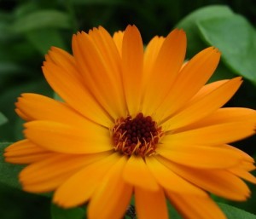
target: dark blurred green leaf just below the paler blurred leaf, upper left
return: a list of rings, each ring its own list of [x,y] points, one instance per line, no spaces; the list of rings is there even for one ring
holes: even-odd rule
[[[61,33],[55,29],[26,32],[26,38],[42,55],[45,55],[51,46],[67,49]]]

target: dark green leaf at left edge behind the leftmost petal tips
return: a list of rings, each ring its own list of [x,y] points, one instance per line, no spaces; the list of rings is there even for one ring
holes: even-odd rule
[[[20,183],[18,181],[18,174],[22,169],[21,165],[9,164],[4,161],[3,153],[4,148],[8,147],[11,143],[1,142],[0,143],[0,182],[11,187],[20,188]]]

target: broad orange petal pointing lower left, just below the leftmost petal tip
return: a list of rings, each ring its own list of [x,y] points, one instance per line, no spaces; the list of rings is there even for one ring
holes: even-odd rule
[[[59,187],[68,177],[73,176],[76,171],[103,156],[102,153],[73,156],[57,154],[26,166],[20,172],[20,182],[28,192],[49,192]]]

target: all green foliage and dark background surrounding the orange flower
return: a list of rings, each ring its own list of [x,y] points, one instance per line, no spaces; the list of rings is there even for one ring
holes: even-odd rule
[[[212,5],[212,3],[221,3]],[[229,4],[227,4],[229,3]],[[206,7],[203,7],[206,6]],[[203,7],[203,8],[202,8]],[[240,75],[244,84],[230,106],[256,107],[256,3],[250,0],[219,1],[136,1],[136,0],[2,0],[0,1],[0,152],[9,143],[22,139],[22,121],[15,114],[16,98],[25,92],[54,96],[41,72],[44,55],[51,46],[71,51],[74,32],[87,32],[104,26],[110,32],[135,24],[144,42],[154,35],[165,35],[173,27],[187,32],[189,59],[199,50],[213,45],[222,52],[222,60],[212,81]],[[236,144],[255,154],[255,137]],[[0,212],[14,205],[9,197],[20,195],[49,206],[49,199],[19,191],[17,176],[22,167],[6,164],[0,156]],[[6,189],[7,187],[14,189]],[[252,190],[256,190],[252,187]],[[9,191],[7,193],[7,191]],[[255,191],[256,193],[256,191]],[[17,198],[18,199],[18,198]],[[218,199],[218,198],[216,198]],[[219,201],[220,199],[218,199]],[[222,200],[220,200],[222,201]],[[3,205],[3,202],[5,205]],[[26,202],[25,202],[26,203]],[[3,219],[27,218],[21,214],[26,204],[15,206],[16,214]],[[256,218],[256,194],[243,204],[219,204],[232,219]],[[236,205],[244,210],[236,209]],[[43,205],[42,205],[43,206]],[[180,218],[169,205],[172,218]],[[46,207],[45,207],[46,208]],[[6,210],[9,210],[8,208]],[[36,210],[42,210],[37,209]],[[47,211],[47,210],[45,210]],[[82,219],[84,209],[62,210],[51,205],[48,218]],[[48,213],[47,213],[48,214]],[[39,217],[38,217],[39,218]],[[44,215],[45,219],[46,216]]]

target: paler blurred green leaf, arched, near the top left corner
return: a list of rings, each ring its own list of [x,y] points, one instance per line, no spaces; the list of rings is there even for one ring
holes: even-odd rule
[[[69,15],[53,9],[38,10],[18,17],[10,26],[10,30],[15,33],[23,33],[49,27],[71,28]]]

